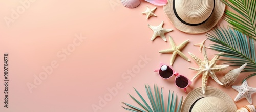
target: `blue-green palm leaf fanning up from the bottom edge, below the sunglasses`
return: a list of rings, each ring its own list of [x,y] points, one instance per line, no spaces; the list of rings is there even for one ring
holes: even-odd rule
[[[140,99],[142,100],[142,102],[146,106],[143,105],[140,101],[138,101],[137,99],[135,99],[133,96],[131,96],[129,94],[130,97],[135,102],[137,102],[142,108],[130,105],[128,103],[123,103],[123,104],[125,104],[126,106],[128,106],[130,108],[126,108],[126,107],[123,107],[123,106],[122,107],[125,110],[132,111],[132,112],[146,112],[146,111],[148,111],[148,112],[165,112],[165,110],[167,110],[167,112],[174,112],[174,111],[179,112],[180,111],[180,107],[182,105],[182,97],[180,99],[180,103],[176,104],[176,103],[178,103],[177,102],[177,94],[176,94],[176,97],[174,99],[174,93],[171,94],[170,91],[169,91],[167,109],[165,109],[162,88],[161,88],[161,91],[159,91],[158,86],[154,85],[154,95],[155,95],[155,97],[153,96],[153,93],[152,93],[151,88],[150,88],[149,85],[148,86],[145,85],[145,89],[146,89],[147,97],[150,100],[151,107],[148,105],[148,103],[145,101],[145,99],[140,95],[140,93],[136,89],[135,89],[136,93],[139,95]],[[178,105],[177,109],[176,109],[176,105]]]

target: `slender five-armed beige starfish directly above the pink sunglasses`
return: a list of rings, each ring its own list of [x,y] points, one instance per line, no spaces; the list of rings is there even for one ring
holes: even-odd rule
[[[176,46],[174,40],[171,36],[169,36],[170,45],[172,49],[161,50],[159,53],[173,53],[172,58],[170,58],[170,65],[173,65],[176,55],[180,55],[183,59],[190,61],[180,50],[187,44],[188,40],[182,42],[179,46]]]

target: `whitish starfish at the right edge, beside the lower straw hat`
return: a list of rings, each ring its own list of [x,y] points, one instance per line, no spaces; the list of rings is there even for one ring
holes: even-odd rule
[[[252,104],[251,94],[256,93],[256,88],[249,87],[246,80],[241,86],[232,86],[232,88],[238,91],[238,95],[234,98],[234,101],[246,98],[246,100]]]

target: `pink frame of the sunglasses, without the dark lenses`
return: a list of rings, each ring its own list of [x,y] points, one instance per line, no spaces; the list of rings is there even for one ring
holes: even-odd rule
[[[159,68],[159,69],[156,69],[154,72],[158,72],[158,74],[160,75],[159,70],[161,69],[161,67],[162,67],[163,65],[166,65],[166,64],[160,63],[160,68]],[[166,65],[166,66],[168,66],[168,65]],[[169,67],[170,69],[172,69],[172,71],[174,71],[173,68],[171,68],[170,66],[168,66],[168,67]],[[179,73],[177,73],[176,71],[174,71],[173,74],[172,74],[172,76],[170,76],[169,78],[173,77],[173,75],[175,75],[175,80],[174,80],[174,82],[176,82],[176,79],[177,79],[177,77],[179,77],[179,76],[185,77],[184,75],[180,75]],[[163,78],[162,76],[160,76],[160,77]],[[163,79],[169,79],[169,78],[163,78]],[[187,78],[187,77],[185,77],[185,78]],[[188,80],[187,86],[191,85],[192,82],[191,82],[188,78],[187,78],[187,80]],[[175,85],[176,85],[176,83],[175,83]],[[176,86],[177,86],[177,85],[176,85]],[[186,89],[187,86],[184,87],[184,88],[180,88],[179,86],[177,86],[177,87],[180,88],[180,89],[184,89],[184,91],[187,92],[187,89]]]

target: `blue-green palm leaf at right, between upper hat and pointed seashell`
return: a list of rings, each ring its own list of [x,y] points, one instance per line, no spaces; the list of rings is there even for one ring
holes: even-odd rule
[[[217,28],[212,29],[207,35],[209,40],[217,43],[211,44],[211,49],[224,54],[219,56],[228,59],[220,59],[227,61],[224,64],[231,64],[230,66],[241,66],[247,63],[247,66],[242,72],[256,72],[256,56],[254,50],[254,40],[247,38],[245,34],[231,28]],[[245,79],[254,76],[255,73],[248,75]],[[244,80],[245,80],[244,79]]]

